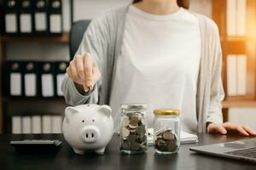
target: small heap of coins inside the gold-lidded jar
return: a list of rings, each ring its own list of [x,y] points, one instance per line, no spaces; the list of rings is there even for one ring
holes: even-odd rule
[[[175,152],[179,144],[177,135],[170,128],[160,129],[155,133],[154,147],[160,152]]]

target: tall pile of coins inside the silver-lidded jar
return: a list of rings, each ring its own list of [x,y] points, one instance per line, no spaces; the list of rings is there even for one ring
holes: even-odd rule
[[[120,137],[121,150],[135,152],[147,150],[147,132],[141,113],[127,113],[123,116]]]

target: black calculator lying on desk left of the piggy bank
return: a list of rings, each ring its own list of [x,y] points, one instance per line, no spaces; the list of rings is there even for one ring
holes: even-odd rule
[[[61,148],[61,141],[57,139],[24,139],[10,141],[10,144],[22,153],[52,153]]]

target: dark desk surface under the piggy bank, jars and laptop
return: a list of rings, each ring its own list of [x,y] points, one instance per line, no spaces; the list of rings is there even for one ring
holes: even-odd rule
[[[235,135],[212,135],[200,133],[199,143],[214,144],[236,139],[245,139]],[[11,139],[60,139],[61,150],[55,155],[20,155],[9,145]],[[0,135],[0,169],[256,169],[256,164],[223,159],[215,156],[203,156],[189,151],[190,146],[183,144],[176,155],[156,155],[154,147],[149,147],[147,153],[141,155],[125,155],[119,151],[119,138],[115,134],[108,144],[104,156],[93,154],[78,156],[73,153],[61,134],[42,135]]]

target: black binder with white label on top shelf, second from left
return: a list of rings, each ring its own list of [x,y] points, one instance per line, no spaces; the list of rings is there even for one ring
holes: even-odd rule
[[[20,33],[31,34],[33,30],[32,0],[21,0],[20,3]]]

